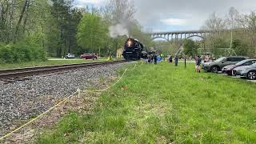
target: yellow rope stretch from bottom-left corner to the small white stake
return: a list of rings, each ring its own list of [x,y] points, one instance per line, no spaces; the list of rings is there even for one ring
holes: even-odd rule
[[[76,91],[74,94],[77,94],[77,93],[78,93],[78,91]],[[62,102],[59,102],[57,105],[55,105],[55,106],[51,107],[49,110],[46,110],[44,113],[42,113],[42,114],[38,115],[38,117],[37,117],[37,118],[34,118],[34,119],[30,120],[30,122],[26,122],[26,124],[24,124],[24,125],[22,125],[22,126],[18,127],[18,129],[16,129],[16,130],[14,130],[14,131],[10,132],[9,134],[6,134],[5,136],[1,137],[1,138],[0,138],[0,141],[2,141],[4,138],[9,137],[9,136],[10,136],[10,134],[14,134],[16,131],[21,130],[23,127],[25,127],[25,126],[29,125],[31,122],[34,122],[34,121],[35,121],[35,120],[37,120],[38,118],[41,118],[43,115],[45,115],[45,114],[49,113],[49,112],[50,112],[50,110],[53,110],[53,109],[54,109],[54,108],[56,108],[57,106],[61,105],[63,102],[66,102],[69,98],[73,97],[73,96],[74,96],[74,94],[71,94],[69,97],[67,97],[67,98],[65,98],[64,100],[62,100]]]

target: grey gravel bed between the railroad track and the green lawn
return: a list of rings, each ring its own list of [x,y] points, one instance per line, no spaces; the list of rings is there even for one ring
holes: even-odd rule
[[[97,66],[46,77],[32,76],[25,82],[3,84],[0,82],[0,136],[14,129],[14,122],[26,120],[48,110],[54,103],[78,88],[101,86],[98,78],[115,75],[115,70],[128,64]]]

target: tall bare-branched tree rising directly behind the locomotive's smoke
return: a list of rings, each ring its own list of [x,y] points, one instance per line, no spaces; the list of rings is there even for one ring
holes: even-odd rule
[[[110,36],[109,45],[112,50],[123,46],[126,40],[124,30],[129,37],[138,39],[146,46],[152,45],[150,37],[142,31],[142,26],[134,18],[136,10],[132,0],[109,0],[100,11],[109,26],[122,27],[122,30],[115,30],[117,37]]]

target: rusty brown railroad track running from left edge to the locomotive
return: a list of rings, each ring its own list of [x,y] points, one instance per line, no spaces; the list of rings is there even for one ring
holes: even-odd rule
[[[32,75],[39,74],[52,74],[57,72],[62,72],[65,70],[74,70],[90,66],[103,66],[110,65],[114,63],[127,62],[125,60],[112,61],[112,62],[92,62],[92,63],[81,63],[81,64],[71,64],[71,65],[58,65],[58,66],[40,66],[40,67],[28,67],[21,69],[10,69],[10,70],[0,70],[0,81],[2,82],[15,82],[15,81],[25,81],[30,78],[26,78]]]

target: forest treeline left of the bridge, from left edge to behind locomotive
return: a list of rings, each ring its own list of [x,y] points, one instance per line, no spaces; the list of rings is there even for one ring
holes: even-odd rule
[[[67,53],[105,55],[114,53],[129,35],[148,43],[150,38],[134,19],[135,12],[134,3],[126,0],[109,0],[97,8],[78,8],[74,0],[1,0],[0,60],[27,62]]]

